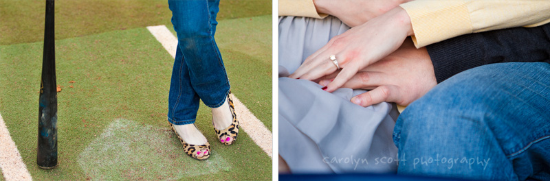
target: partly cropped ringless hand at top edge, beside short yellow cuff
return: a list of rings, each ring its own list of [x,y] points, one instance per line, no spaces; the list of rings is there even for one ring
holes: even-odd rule
[[[349,27],[366,23],[410,0],[314,0],[317,12],[336,16]]]

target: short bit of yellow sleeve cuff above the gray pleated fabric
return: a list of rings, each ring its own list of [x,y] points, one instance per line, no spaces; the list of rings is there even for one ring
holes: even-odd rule
[[[324,19],[328,14],[318,14],[313,0],[279,0],[279,16],[305,16]]]

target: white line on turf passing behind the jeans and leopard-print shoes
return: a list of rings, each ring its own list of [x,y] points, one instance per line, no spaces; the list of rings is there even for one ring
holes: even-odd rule
[[[170,53],[173,58],[176,57],[177,38],[168,30],[165,25],[148,26],[147,29],[157,40],[162,44],[162,47]],[[233,95],[233,103],[235,106],[235,113],[241,128],[252,138],[252,141],[256,143],[263,152],[265,152],[270,158],[273,158],[273,134],[270,130],[265,128],[265,125],[246,108],[246,106]]]

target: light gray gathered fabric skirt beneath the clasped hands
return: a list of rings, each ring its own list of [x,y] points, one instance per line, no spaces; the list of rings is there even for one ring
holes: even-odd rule
[[[363,108],[350,99],[366,90],[339,88],[286,77],[349,27],[325,19],[279,18],[279,155],[293,173],[395,173],[397,147],[392,134],[395,104]],[[329,61],[329,58],[327,58]]]

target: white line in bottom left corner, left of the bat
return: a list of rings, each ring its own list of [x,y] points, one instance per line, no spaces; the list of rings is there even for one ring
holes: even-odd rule
[[[0,114],[0,168],[5,180],[32,180]]]

